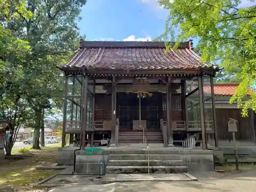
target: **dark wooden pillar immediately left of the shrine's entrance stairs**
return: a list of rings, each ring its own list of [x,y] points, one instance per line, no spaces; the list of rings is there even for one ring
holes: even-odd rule
[[[111,126],[111,144],[117,146],[116,141],[116,78],[112,80],[112,126]]]

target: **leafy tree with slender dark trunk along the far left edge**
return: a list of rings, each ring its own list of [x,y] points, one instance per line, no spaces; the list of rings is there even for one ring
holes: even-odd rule
[[[30,118],[19,82],[24,78],[23,61],[31,49],[27,41],[13,33],[20,28],[13,24],[30,19],[31,15],[25,0],[0,0],[0,118],[11,124],[5,141],[7,155],[11,155],[19,127]]]

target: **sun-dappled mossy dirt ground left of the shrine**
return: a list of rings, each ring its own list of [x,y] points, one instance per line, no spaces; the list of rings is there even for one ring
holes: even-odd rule
[[[54,170],[36,170],[36,167],[55,164],[57,148],[44,147],[18,154],[13,159],[0,160],[0,192],[32,190],[31,184],[54,174]]]

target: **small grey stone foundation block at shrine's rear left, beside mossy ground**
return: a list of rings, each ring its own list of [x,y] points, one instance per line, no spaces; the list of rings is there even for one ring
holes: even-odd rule
[[[74,151],[79,147],[59,147],[57,165],[74,165]]]

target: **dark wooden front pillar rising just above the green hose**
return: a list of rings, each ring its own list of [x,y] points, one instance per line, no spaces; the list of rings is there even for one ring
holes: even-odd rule
[[[82,81],[83,96],[82,96],[82,150],[85,148],[86,144],[86,126],[87,126],[87,93],[88,93],[88,76],[84,73],[84,78]]]

